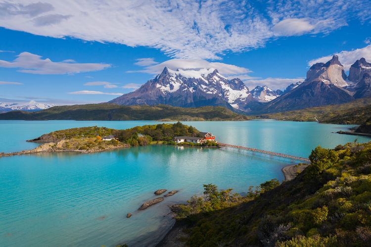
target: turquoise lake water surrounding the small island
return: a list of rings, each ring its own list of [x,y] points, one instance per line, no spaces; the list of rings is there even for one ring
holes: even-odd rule
[[[32,149],[25,140],[50,131],[151,121],[0,121],[0,152]],[[184,122],[217,140],[308,157],[318,145],[333,148],[368,137],[332,132],[351,125],[280,122]],[[0,246],[154,246],[174,220],[168,206],[202,193],[202,184],[244,193],[278,178],[289,160],[224,148],[154,145],[95,154],[44,153],[0,158]],[[179,190],[138,211],[157,189]],[[129,219],[126,214],[133,216]]]

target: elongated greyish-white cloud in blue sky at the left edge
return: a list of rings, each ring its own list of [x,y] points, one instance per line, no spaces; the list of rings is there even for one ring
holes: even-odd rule
[[[111,66],[109,64],[67,61],[68,62],[66,62],[66,60],[63,62],[53,62],[49,58],[42,59],[39,55],[30,52],[22,52],[12,62],[0,60],[0,67],[21,68],[18,70],[19,72],[30,74],[61,75],[103,70]]]

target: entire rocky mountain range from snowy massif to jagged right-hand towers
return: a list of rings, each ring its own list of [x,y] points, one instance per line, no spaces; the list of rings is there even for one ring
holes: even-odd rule
[[[161,74],[136,91],[110,103],[225,106],[250,114],[281,112],[371,97],[370,74],[371,64],[361,58],[351,66],[348,77],[334,55],[326,63],[314,64],[304,82],[290,84],[284,91],[272,90],[265,85],[250,91],[238,78],[227,79],[215,69],[174,71],[165,67]]]

